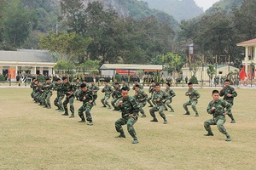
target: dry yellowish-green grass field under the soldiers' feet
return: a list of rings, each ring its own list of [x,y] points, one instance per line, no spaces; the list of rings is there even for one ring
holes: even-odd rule
[[[79,101],[69,119],[55,111],[55,94],[48,110],[32,102],[30,88],[0,88],[0,169],[256,169],[256,90],[236,89],[236,123],[227,117],[224,124],[231,142],[216,126],[213,137],[203,135],[212,89],[198,89],[199,117],[191,107],[193,114],[183,116],[186,90],[174,89],[175,112],[165,111],[166,125],[158,114],[160,122],[150,122],[146,105],[147,117],[135,124],[139,144],[131,144],[126,127],[126,139],[114,138],[120,113],[102,108],[101,92],[91,111],[94,125],[87,126],[78,122]]]

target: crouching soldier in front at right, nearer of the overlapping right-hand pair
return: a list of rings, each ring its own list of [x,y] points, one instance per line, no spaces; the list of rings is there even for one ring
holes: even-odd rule
[[[217,125],[218,130],[226,135],[226,141],[231,141],[230,134],[227,133],[224,127],[224,122],[226,121],[225,115],[226,113],[230,112],[231,105],[223,99],[219,99],[218,90],[212,91],[212,99],[213,100],[209,103],[207,107],[207,112],[211,114],[213,118],[204,122],[204,127],[208,132],[207,134],[205,134],[205,136],[213,136],[212,128],[210,125]]]

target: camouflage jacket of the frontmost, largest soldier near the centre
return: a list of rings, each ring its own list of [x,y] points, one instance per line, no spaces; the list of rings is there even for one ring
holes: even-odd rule
[[[119,105],[119,101],[123,103]],[[137,117],[138,112],[141,110],[141,106],[137,103],[136,99],[131,96],[127,96],[126,99],[118,99],[115,106],[122,112],[122,118],[124,119],[129,119],[130,114]]]

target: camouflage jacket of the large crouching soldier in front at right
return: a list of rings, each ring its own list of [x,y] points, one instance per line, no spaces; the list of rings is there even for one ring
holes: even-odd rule
[[[218,99],[217,101],[211,101],[207,107],[207,112],[213,116],[213,118],[224,118],[224,113],[230,112],[230,104],[224,99]],[[216,109],[212,111],[212,107],[215,107]]]

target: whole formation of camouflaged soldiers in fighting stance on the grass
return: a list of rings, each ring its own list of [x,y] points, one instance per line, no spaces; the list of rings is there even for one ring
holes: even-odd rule
[[[193,84],[191,82],[188,83],[188,91],[185,93],[186,96],[189,97],[189,101],[183,104],[183,108],[185,113],[183,115],[190,115],[188,105],[191,105],[193,111],[195,111],[195,116],[199,116],[199,113],[196,109],[196,104],[198,103],[198,99],[201,97],[201,94],[193,88]],[[73,118],[75,116],[75,108],[74,108],[74,100],[77,99],[82,102],[78,110],[78,115],[81,118],[79,122],[86,122],[87,124],[92,126],[92,116],[90,111],[93,106],[96,106],[97,93],[100,90],[99,87],[96,86],[94,81],[90,82],[80,82],[79,79],[76,80],[75,83],[68,82],[67,77],[62,77],[62,80],[58,78],[53,84],[50,82],[49,78],[45,78],[45,82],[38,82],[38,80],[33,79],[32,84],[32,99],[38,105],[43,106],[46,109],[51,109],[50,97],[53,94],[53,91],[56,91],[57,97],[54,100],[54,105],[57,107],[57,111],[64,111],[62,116],[69,116],[69,118]],[[163,123],[167,124],[166,115],[164,111],[174,112],[172,108],[172,98],[176,96],[174,91],[171,89],[170,83],[166,83],[166,89],[161,90],[160,84],[151,82],[148,93],[145,93],[143,90],[143,85],[139,84],[137,80],[135,80],[134,85],[132,87],[134,90],[134,95],[129,96],[130,87],[122,80],[121,84],[114,80],[112,86],[108,84],[107,81],[104,82],[104,87],[102,88],[102,93],[104,93],[104,97],[101,99],[102,107],[108,107],[108,109],[112,109],[113,111],[120,111],[121,118],[119,118],[115,122],[116,131],[119,133],[116,138],[125,138],[125,132],[122,128],[123,125],[127,125],[127,130],[133,138],[132,144],[137,144],[137,133],[133,127],[133,125],[137,122],[139,112],[142,114],[141,117],[146,117],[147,114],[143,110],[143,107],[149,104],[148,107],[151,107],[149,110],[150,116],[153,119],[150,122],[158,122],[157,116],[155,112],[158,112],[160,117],[163,118]],[[224,99],[219,99],[219,97],[224,97]],[[213,136],[212,128],[210,125],[217,125],[218,130],[226,135],[226,141],[230,141],[230,134],[227,133],[224,128],[225,115],[230,116],[231,123],[235,123],[234,116],[231,113],[231,107],[234,104],[234,98],[237,96],[234,88],[230,87],[230,81],[225,80],[224,88],[222,88],[219,92],[218,90],[212,91],[212,101],[209,103],[207,107],[207,112],[213,116],[212,119],[204,122],[204,127],[207,130],[207,134],[205,136]],[[108,100],[112,97],[112,100],[109,104]],[[65,98],[65,99],[64,99]],[[62,100],[64,99],[63,103]],[[69,104],[68,112],[67,105]],[[84,116],[85,112],[85,116]]]

